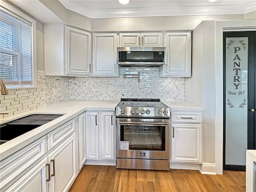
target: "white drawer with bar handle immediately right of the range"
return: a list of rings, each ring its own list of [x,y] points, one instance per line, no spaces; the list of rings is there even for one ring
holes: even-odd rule
[[[202,112],[172,112],[172,122],[190,122],[190,123],[201,123]]]

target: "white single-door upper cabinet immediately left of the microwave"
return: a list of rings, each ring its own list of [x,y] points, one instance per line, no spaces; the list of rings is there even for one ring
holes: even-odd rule
[[[117,77],[117,34],[93,34],[92,39],[92,76]]]

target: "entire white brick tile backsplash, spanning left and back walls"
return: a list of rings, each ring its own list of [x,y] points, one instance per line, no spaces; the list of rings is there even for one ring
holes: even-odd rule
[[[126,78],[124,74],[137,74]],[[174,93],[170,94],[170,87]],[[106,93],[101,93],[106,88]],[[58,89],[55,91],[54,89]],[[160,98],[185,100],[184,78],[160,78],[159,68],[120,68],[120,77],[62,77],[45,76],[37,71],[37,88],[10,90],[0,96],[0,118],[47,106],[63,100],[118,100],[120,98]]]

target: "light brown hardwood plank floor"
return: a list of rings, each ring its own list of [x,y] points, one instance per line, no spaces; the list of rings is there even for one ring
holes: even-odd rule
[[[85,165],[69,192],[244,192],[245,172],[203,175],[198,170],[116,169]]]

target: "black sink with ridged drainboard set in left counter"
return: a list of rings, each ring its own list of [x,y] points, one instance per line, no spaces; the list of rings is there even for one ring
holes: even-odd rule
[[[63,114],[31,114],[0,125],[0,144],[14,139],[43,124],[46,124]]]

